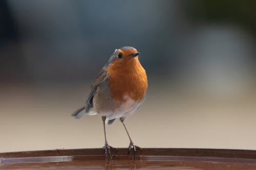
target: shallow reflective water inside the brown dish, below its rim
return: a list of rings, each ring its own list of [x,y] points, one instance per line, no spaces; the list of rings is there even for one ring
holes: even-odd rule
[[[118,156],[49,156],[1,158],[1,168],[8,169],[256,169],[255,159],[219,157],[141,156],[136,160]]]

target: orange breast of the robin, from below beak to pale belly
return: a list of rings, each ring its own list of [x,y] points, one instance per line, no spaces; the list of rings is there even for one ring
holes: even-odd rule
[[[114,61],[107,71],[110,75],[107,81],[112,98],[116,101],[124,101],[124,96],[129,96],[134,101],[143,99],[147,89],[147,77],[138,57],[127,58],[122,62]]]

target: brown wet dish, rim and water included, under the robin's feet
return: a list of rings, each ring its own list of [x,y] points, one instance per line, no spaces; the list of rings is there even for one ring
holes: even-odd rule
[[[256,169],[256,151],[142,149],[128,154],[102,149],[52,150],[0,154],[0,169]]]

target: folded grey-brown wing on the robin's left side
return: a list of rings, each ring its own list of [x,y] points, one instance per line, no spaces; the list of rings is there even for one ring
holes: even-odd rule
[[[93,97],[94,97],[94,94],[95,94],[98,86],[103,81],[105,81],[107,77],[108,77],[108,72],[106,72],[106,70],[103,68],[99,72],[99,76],[97,77],[96,81],[93,83],[93,85],[91,87],[90,94],[89,94],[88,99],[86,101],[86,113],[88,113],[90,111],[90,109],[93,108]]]

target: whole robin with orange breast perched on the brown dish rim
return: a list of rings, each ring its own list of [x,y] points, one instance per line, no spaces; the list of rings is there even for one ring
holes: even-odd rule
[[[100,70],[91,86],[86,105],[72,116],[100,114],[103,120],[105,156],[110,156],[110,145],[106,140],[105,123],[111,125],[119,118],[130,139],[129,152],[138,149],[127,131],[124,120],[139,108],[147,89],[146,71],[139,62],[139,52],[131,46],[116,49],[108,63]]]

